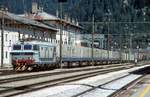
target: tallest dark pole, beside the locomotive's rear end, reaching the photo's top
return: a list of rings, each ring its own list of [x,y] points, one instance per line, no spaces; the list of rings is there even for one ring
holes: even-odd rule
[[[60,68],[62,68],[62,32],[63,32],[63,22],[62,22],[62,18],[63,18],[63,3],[67,2],[67,0],[58,0],[59,3],[59,7],[60,7],[60,47],[59,47],[59,66]]]

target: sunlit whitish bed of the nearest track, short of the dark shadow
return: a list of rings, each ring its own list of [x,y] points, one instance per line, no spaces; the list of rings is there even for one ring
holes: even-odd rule
[[[122,76],[120,78],[111,80],[109,82],[106,82],[104,84],[101,84],[100,86],[91,87],[87,89],[86,91],[80,92],[78,94],[75,94],[71,97],[118,97],[118,93],[120,93],[122,90],[125,90],[128,85],[131,85],[131,83],[136,82],[137,80],[141,79],[143,76],[140,75],[132,75],[128,74],[125,76]],[[133,80],[129,81],[128,85],[123,86],[122,88],[117,87],[117,83],[122,83],[121,80],[127,79],[127,78],[133,78]],[[114,87],[115,83],[115,87]],[[122,83],[123,84],[123,83]],[[113,87],[113,88],[112,88]],[[122,96],[120,96],[122,97]]]

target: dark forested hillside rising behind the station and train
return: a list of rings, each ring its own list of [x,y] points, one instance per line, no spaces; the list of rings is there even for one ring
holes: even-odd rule
[[[58,9],[58,0],[34,0],[37,1],[39,6],[44,8],[44,11],[56,14]],[[0,0],[0,5],[5,6],[12,13],[21,14],[31,11],[32,0]],[[94,10],[93,10],[94,9]],[[143,22],[150,21],[150,0],[68,0],[63,7],[63,13],[67,14],[71,18],[78,19],[78,21],[86,21],[88,24],[82,24],[86,33],[92,32],[92,14],[95,16],[96,22]],[[81,24],[81,23],[80,23]],[[146,32],[149,32],[150,24],[96,24],[95,32],[105,34],[112,33],[112,35],[128,34],[129,36],[116,36],[113,39],[120,41],[120,38],[124,38],[120,43],[128,43],[131,33],[134,34],[135,47],[142,41],[147,41],[146,38],[137,39],[136,37],[147,36]],[[109,26],[109,29],[108,29]],[[141,34],[142,33],[142,34]],[[120,37],[120,38],[118,38]],[[147,38],[148,39],[148,38]],[[111,38],[110,38],[110,41]],[[150,42],[150,41],[149,41]],[[112,42],[113,43],[113,42]],[[148,43],[148,42],[144,42]],[[133,43],[134,44],[134,43]],[[146,45],[145,45],[146,46]],[[143,45],[144,47],[144,45]]]

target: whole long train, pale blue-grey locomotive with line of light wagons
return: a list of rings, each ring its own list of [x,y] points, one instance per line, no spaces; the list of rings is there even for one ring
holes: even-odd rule
[[[59,43],[24,41],[13,44],[11,51],[12,65],[15,71],[31,71],[41,68],[59,67]],[[134,61],[133,53],[108,51],[91,47],[62,44],[62,64],[84,66]],[[109,55],[109,56],[108,56]]]

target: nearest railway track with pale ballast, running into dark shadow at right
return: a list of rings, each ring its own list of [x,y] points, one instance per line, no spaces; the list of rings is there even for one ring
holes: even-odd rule
[[[130,87],[140,82],[146,76],[146,74],[142,75],[143,74],[142,72],[145,73],[147,71],[145,71],[144,68],[138,71],[131,72],[128,75],[121,76],[120,78],[108,81],[96,87],[95,86],[91,87],[91,85],[89,85],[91,88],[87,89],[86,91],[80,92],[76,95],[73,95],[71,97],[122,97],[121,96],[122,92],[127,91],[128,89],[130,89]],[[125,79],[130,79],[130,81],[127,82],[128,84],[123,83],[122,80],[127,81]],[[117,86],[117,84],[119,83],[124,85]],[[101,94],[101,96],[97,94]]]

